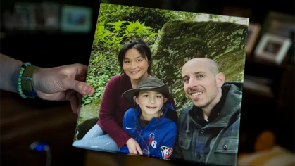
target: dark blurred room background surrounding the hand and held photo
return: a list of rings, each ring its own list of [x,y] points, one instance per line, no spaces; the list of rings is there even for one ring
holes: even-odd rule
[[[294,1],[1,1],[1,53],[43,68],[88,65],[101,2],[249,18],[238,165],[283,165],[274,148],[294,156]],[[0,102],[1,165],[184,164],[72,147],[67,101],[1,91]],[[31,151],[36,141],[50,151]]]

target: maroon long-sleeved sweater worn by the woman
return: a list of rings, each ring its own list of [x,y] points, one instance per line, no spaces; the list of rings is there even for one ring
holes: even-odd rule
[[[132,89],[130,77],[127,75],[115,75],[106,84],[101,106],[99,108],[99,125],[104,134],[108,134],[122,148],[128,139],[131,138],[122,127],[125,112],[133,108],[133,103],[122,98],[122,94]],[[175,102],[172,103],[175,108]],[[176,109],[176,108],[175,108]]]

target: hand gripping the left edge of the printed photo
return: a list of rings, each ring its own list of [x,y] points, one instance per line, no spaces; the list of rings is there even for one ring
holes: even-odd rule
[[[94,93],[94,87],[84,82],[87,70],[82,64],[39,68],[33,76],[37,96],[49,101],[70,101],[73,113],[77,113],[82,95]]]

